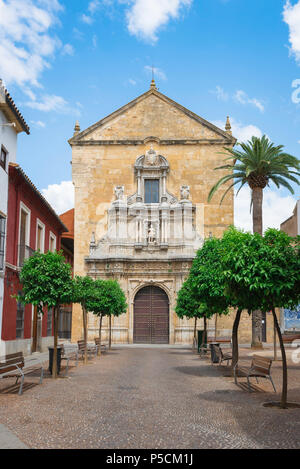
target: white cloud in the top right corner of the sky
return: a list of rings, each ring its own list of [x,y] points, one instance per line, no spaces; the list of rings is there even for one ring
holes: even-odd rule
[[[286,1],[283,21],[289,27],[290,53],[300,63],[300,0],[294,5],[289,0]]]

